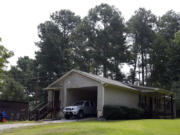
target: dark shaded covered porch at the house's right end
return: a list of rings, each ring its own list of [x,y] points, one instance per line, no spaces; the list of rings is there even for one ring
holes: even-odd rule
[[[145,111],[147,118],[175,118],[175,94],[160,91],[141,91],[139,107]]]

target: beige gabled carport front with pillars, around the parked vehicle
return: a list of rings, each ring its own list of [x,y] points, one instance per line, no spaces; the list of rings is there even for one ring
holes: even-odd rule
[[[48,103],[53,103],[53,108],[59,108],[55,117],[63,117],[64,107],[82,100],[94,102],[97,106],[97,117],[102,116],[104,87],[99,80],[93,77],[86,76],[77,70],[71,70],[45,89],[48,90]],[[58,93],[59,96],[57,96]]]

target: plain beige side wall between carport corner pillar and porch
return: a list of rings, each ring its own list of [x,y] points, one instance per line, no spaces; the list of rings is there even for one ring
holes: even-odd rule
[[[123,88],[105,87],[104,105],[120,105],[129,108],[138,108],[139,96],[123,90]]]

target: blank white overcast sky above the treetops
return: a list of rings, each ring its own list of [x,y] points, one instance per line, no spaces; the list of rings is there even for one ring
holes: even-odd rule
[[[139,7],[150,9],[157,16],[173,9],[180,11],[180,0],[0,0],[0,37],[7,49],[14,52],[10,65],[18,57],[34,58],[37,48],[37,26],[48,20],[52,12],[70,9],[84,17],[90,8],[108,3],[118,8],[126,20]]]

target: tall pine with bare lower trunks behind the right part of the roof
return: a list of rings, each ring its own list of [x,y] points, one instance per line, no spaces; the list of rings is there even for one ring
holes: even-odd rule
[[[141,78],[142,85],[145,85],[145,79],[147,80],[148,78],[149,53],[155,36],[154,29],[156,28],[156,16],[153,15],[150,10],[147,11],[144,8],[140,8],[135,12],[135,15],[130,18],[127,24],[129,32],[134,39],[133,45],[136,46],[134,47],[136,48],[135,55],[137,54],[134,56],[135,60],[137,60],[138,55],[141,56]]]

